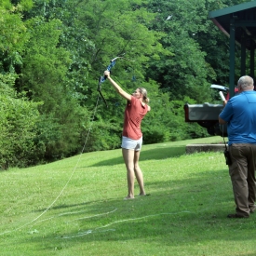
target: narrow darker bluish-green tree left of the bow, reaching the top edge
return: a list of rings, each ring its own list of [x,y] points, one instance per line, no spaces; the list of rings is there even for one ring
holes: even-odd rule
[[[88,98],[87,77],[90,64],[88,54],[94,44],[88,40],[87,25],[79,19],[81,1],[34,0],[34,8],[24,14],[26,20],[35,17],[51,22],[61,20],[58,47],[65,48],[70,53],[70,64],[66,73],[66,86],[74,88],[75,97],[80,104]]]

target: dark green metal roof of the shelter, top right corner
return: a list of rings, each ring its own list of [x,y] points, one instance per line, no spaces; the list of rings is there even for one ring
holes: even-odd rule
[[[244,40],[245,47],[256,47],[256,1],[209,12],[209,19],[229,36],[231,24],[236,28],[236,42]]]

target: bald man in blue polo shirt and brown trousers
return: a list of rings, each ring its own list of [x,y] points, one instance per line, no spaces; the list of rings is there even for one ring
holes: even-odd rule
[[[227,218],[249,218],[256,209],[256,91],[248,75],[239,78],[237,87],[238,95],[223,101],[224,108],[219,115],[219,123],[227,123],[232,161],[229,175],[236,202],[236,213]]]

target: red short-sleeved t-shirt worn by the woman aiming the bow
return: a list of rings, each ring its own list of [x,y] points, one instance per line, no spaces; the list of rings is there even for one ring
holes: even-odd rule
[[[144,115],[148,112],[148,106],[141,104],[139,99],[131,96],[131,100],[128,101],[126,110],[125,110],[125,122],[123,128],[123,136],[128,137],[132,140],[141,139],[141,120]]]

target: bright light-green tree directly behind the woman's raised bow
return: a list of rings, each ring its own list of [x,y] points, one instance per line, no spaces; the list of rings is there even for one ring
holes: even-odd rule
[[[157,60],[159,52],[165,51],[158,42],[162,34],[148,30],[155,14],[142,7],[143,2],[88,0],[77,6],[77,19],[84,22],[88,40],[94,44],[86,53],[91,66],[87,77],[89,97],[85,101],[88,109],[93,109],[98,100],[98,80],[110,60],[116,56],[126,58],[116,61],[112,76],[130,92],[147,86],[144,74],[148,61]],[[152,86],[158,91],[155,83]],[[126,105],[107,81],[102,84],[102,93],[108,108],[100,98],[91,133],[94,150],[119,147]]]

